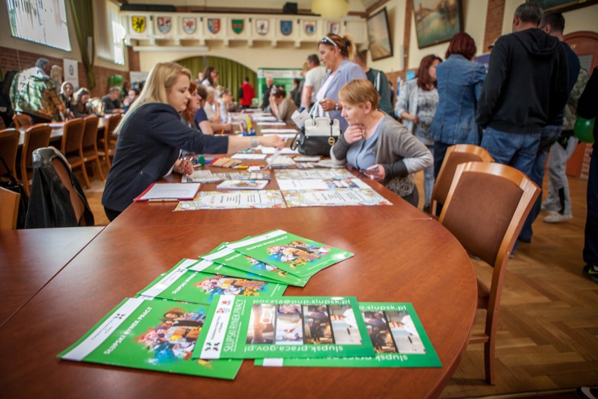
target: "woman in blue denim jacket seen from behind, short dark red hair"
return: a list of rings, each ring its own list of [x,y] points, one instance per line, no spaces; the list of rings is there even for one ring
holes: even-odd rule
[[[486,68],[473,62],[474,39],[465,32],[453,36],[446,61],[438,66],[439,103],[432,121],[434,138],[434,178],[438,176],[446,148],[455,144],[479,145],[481,129],[475,111]]]

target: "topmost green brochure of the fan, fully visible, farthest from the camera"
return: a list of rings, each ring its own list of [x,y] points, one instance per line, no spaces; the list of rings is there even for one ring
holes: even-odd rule
[[[272,230],[230,242],[227,247],[298,277],[313,275],[353,256],[349,251],[307,240],[284,230]]]

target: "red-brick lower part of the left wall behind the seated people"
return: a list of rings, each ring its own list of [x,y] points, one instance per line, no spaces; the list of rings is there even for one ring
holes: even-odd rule
[[[137,65],[139,65],[139,55],[137,53],[135,54]],[[15,48],[0,46],[0,64],[5,73],[10,70],[20,71],[34,67],[35,62],[39,57],[40,55],[36,53],[28,53],[27,51],[19,51]],[[44,56],[44,58],[47,58],[52,64],[62,67],[62,58],[47,56]],[[113,74],[121,74],[124,79],[129,79],[128,72],[98,66],[93,67],[93,74],[95,76],[95,88],[91,90],[92,97],[104,96],[108,92],[108,77],[111,77]],[[87,86],[87,73],[83,63],[79,63],[79,85],[81,87]]]

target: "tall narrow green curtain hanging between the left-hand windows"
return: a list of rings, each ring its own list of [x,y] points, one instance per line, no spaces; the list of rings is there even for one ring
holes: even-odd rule
[[[77,42],[79,43],[79,48],[81,48],[81,58],[87,71],[87,89],[93,89],[95,87],[95,76],[93,75],[93,59],[95,58],[95,46],[93,44],[93,3],[88,0],[70,0],[70,4],[73,24],[77,33]],[[88,37],[91,37],[91,49],[88,48]]]

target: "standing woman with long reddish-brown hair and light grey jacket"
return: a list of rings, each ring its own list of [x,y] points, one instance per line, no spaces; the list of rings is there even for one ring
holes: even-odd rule
[[[417,79],[407,81],[394,113],[403,120],[405,127],[424,143],[434,154],[434,140],[430,132],[432,118],[438,107],[436,67],[441,63],[436,55],[426,55],[420,63]],[[424,211],[430,210],[432,189],[434,188],[434,166],[424,171]]]

